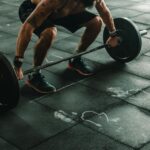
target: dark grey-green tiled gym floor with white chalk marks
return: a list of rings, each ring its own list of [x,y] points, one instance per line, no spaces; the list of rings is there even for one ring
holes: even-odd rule
[[[12,62],[21,25],[22,0],[0,1],[0,51]],[[0,150],[150,150],[150,2],[106,0],[114,17],[129,17],[142,36],[140,55],[119,65],[105,50],[84,57],[96,74],[83,78],[67,70],[67,62],[43,70],[58,91],[41,95],[20,81],[16,108],[0,115]],[[96,13],[95,9],[91,10]],[[47,59],[70,56],[84,29],[72,34],[58,27]],[[32,66],[32,41],[24,70]],[[102,44],[102,33],[90,48]]]

